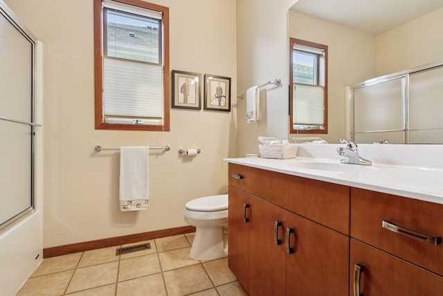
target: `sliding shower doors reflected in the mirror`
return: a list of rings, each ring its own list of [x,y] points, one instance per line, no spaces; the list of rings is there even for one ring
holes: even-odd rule
[[[357,143],[443,143],[443,61],[366,80],[348,89]]]

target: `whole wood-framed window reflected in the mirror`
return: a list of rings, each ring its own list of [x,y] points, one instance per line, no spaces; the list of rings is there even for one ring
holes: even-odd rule
[[[291,134],[327,134],[327,46],[290,38]]]

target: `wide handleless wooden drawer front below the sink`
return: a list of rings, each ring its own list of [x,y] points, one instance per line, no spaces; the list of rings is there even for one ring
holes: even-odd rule
[[[258,168],[252,177],[254,195],[349,235],[350,187]]]

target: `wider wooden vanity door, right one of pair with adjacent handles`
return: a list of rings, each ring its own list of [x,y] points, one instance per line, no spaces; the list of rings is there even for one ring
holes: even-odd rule
[[[347,295],[349,237],[287,212],[286,295]]]

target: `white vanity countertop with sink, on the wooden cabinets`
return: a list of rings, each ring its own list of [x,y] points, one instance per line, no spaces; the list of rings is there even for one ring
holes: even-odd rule
[[[443,146],[440,147],[443,150]],[[365,157],[365,155],[362,156]],[[370,157],[365,158],[370,159]],[[443,204],[442,168],[383,165],[374,162],[372,162],[372,166],[361,166],[341,164],[339,159],[318,157],[266,159],[259,157],[227,158],[224,161]]]

